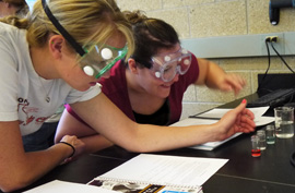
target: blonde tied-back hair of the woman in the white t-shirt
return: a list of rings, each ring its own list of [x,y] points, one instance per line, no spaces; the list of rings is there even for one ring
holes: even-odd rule
[[[114,0],[47,0],[47,5],[81,46],[88,43],[104,44],[119,31],[127,39],[128,57],[133,52],[131,25]],[[33,47],[44,47],[50,34],[60,34],[44,12],[42,0],[34,4],[27,19],[12,17],[4,22],[26,28],[28,45]]]

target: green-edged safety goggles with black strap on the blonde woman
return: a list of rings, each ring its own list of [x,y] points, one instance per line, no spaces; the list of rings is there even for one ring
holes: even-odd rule
[[[106,45],[101,47],[96,45],[90,48],[82,47],[54,16],[46,3],[46,0],[42,0],[42,4],[50,22],[79,53],[80,59],[78,62],[81,64],[81,68],[85,74],[98,79],[109,69],[111,69],[111,67],[114,67],[118,60],[122,59],[127,55],[127,46],[125,46],[122,49]]]

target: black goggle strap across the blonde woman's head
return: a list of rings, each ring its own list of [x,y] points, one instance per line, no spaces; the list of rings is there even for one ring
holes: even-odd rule
[[[44,9],[44,12],[48,16],[48,19],[51,21],[51,23],[55,25],[55,27],[60,32],[60,34],[69,41],[69,44],[74,48],[74,50],[83,57],[86,52],[85,50],[74,40],[74,38],[60,25],[58,20],[54,16],[50,9],[46,4],[46,0],[42,0],[42,5]]]

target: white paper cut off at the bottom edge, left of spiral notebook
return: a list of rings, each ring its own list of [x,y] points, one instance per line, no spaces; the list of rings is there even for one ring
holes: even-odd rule
[[[24,193],[118,193],[98,186],[54,180]]]

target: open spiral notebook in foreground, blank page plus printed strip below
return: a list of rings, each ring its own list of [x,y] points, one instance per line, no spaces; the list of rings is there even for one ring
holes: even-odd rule
[[[88,184],[118,192],[201,193],[201,185],[227,161],[220,158],[140,154]]]

